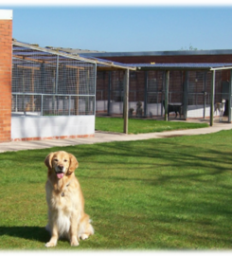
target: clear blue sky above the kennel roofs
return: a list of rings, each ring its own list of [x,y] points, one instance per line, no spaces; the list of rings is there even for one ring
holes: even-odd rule
[[[0,1],[13,37],[99,51],[232,48],[231,1]]]

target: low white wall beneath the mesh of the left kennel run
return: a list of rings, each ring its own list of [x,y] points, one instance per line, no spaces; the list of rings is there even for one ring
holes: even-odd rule
[[[92,136],[94,134],[95,116],[11,118],[11,139]]]

